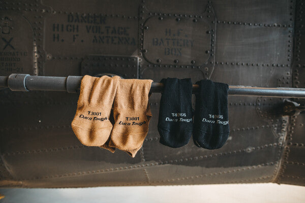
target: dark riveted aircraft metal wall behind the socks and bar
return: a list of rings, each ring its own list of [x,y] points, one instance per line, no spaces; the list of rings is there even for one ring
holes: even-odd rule
[[[0,75],[66,78],[112,70],[155,82],[210,78],[232,86],[305,88],[303,4],[0,0]],[[156,38],[165,39],[169,29],[176,35],[173,44],[165,40],[155,46]],[[178,32],[184,37],[177,38]],[[193,40],[193,47],[186,40]],[[177,42],[185,44],[177,47]],[[175,56],[177,48],[181,56]],[[137,67],[127,69],[121,65],[128,62],[112,61],[111,69],[103,66],[105,60],[90,58],[106,55],[137,58]],[[149,132],[131,158],[80,144],[70,127],[78,94],[0,90],[0,186],[305,185],[304,114],[280,114],[283,98],[229,96],[229,139],[221,149],[205,150],[192,141],[178,149],[159,144],[160,96],[150,97]],[[294,101],[304,106],[303,99]]]

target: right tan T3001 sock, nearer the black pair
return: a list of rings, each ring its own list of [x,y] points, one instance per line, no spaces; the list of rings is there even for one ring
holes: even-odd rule
[[[148,94],[152,80],[119,79],[113,101],[115,124],[109,147],[126,151],[135,157],[142,147],[151,112]]]

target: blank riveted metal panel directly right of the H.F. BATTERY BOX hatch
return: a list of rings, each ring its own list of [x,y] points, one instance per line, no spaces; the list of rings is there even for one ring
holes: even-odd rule
[[[221,21],[217,28],[216,61],[289,65],[291,38],[288,36],[292,28],[235,25]],[[261,40],[257,41],[258,38]]]

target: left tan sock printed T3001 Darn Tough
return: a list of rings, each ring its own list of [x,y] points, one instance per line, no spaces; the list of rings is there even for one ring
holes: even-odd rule
[[[101,146],[108,140],[112,124],[109,115],[119,77],[84,76],[77,111],[71,123],[78,140],[86,146]]]

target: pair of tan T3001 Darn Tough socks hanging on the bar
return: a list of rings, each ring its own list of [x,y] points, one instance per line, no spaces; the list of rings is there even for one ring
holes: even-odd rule
[[[84,76],[71,124],[79,141],[111,152],[117,148],[135,157],[148,132],[151,82]],[[109,121],[112,107],[114,125]]]

